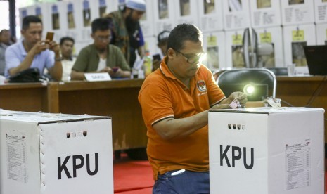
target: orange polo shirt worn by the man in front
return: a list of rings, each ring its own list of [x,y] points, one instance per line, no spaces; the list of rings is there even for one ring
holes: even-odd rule
[[[148,159],[153,178],[174,169],[209,171],[207,125],[184,138],[162,139],[153,124],[169,117],[179,119],[208,110],[225,96],[212,72],[204,65],[191,78],[190,89],[169,71],[164,58],[158,70],[146,77],[139,92],[142,115],[148,129]]]

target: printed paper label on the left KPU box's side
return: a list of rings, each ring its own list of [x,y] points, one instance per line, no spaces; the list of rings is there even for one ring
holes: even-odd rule
[[[7,178],[27,183],[25,134],[6,134]]]

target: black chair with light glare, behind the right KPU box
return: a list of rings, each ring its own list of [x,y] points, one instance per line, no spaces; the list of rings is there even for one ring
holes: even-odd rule
[[[255,88],[248,94],[248,101],[262,101],[264,98],[276,97],[276,77],[274,72],[264,68],[234,69],[222,72],[217,84],[228,97],[234,91],[245,92],[249,85]]]

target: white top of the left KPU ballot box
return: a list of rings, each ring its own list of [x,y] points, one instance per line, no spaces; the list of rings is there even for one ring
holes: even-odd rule
[[[44,113],[44,112],[18,112],[0,109],[0,119],[7,119],[20,122],[74,122],[90,119],[109,119],[111,117],[91,116],[91,115],[67,115],[61,113]]]

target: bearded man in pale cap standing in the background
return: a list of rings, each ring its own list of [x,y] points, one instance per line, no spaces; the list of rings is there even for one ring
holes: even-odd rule
[[[136,60],[135,50],[141,58],[144,56],[144,40],[139,20],[145,12],[144,0],[127,0],[122,11],[113,11],[105,16],[113,20],[113,39],[110,44],[120,47],[130,67],[133,67]]]

